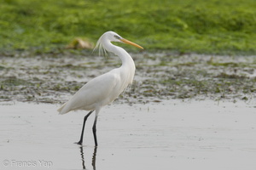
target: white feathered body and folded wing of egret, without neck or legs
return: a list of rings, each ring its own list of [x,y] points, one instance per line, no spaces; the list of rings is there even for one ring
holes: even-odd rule
[[[92,111],[108,105],[128,86],[125,77],[121,75],[121,68],[113,69],[87,82],[72,99],[61,106],[59,113],[65,114],[76,110]]]

